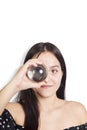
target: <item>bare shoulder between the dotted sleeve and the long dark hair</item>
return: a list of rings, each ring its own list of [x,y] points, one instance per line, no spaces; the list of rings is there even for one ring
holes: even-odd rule
[[[16,102],[10,102],[6,106],[6,109],[11,113],[17,124],[19,125],[24,124],[25,114],[21,104]]]

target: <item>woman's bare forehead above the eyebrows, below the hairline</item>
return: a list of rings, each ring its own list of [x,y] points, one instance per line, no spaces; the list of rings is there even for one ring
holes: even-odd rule
[[[54,66],[54,65],[58,65],[60,66],[60,62],[59,60],[56,58],[56,56],[49,52],[49,51],[45,51],[45,52],[42,52],[39,56],[38,56],[38,59],[43,63],[43,64],[46,64],[46,65],[49,65],[49,66]]]

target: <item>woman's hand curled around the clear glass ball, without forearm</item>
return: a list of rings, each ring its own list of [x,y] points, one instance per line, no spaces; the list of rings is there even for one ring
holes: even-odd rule
[[[38,59],[30,59],[19,68],[18,72],[15,75],[15,84],[17,84],[20,90],[28,88],[40,88],[42,84],[41,82],[37,83],[27,77],[27,71],[29,67],[37,66],[38,64],[42,64]]]

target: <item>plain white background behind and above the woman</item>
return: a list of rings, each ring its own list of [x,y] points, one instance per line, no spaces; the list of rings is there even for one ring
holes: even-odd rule
[[[67,100],[87,108],[86,0],[0,1],[0,88],[23,63],[28,48],[52,42],[67,66]]]

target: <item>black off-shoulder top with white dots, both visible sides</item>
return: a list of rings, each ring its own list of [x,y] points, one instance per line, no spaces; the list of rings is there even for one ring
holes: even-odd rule
[[[5,109],[0,116],[0,130],[25,130],[25,128],[24,126],[16,124],[11,113]],[[72,126],[64,130],[87,130],[87,123],[78,126]]]

